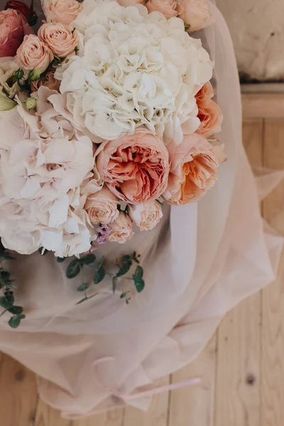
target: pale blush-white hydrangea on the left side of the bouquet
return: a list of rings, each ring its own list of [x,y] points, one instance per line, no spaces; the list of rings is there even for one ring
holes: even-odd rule
[[[97,234],[82,206],[93,179],[92,141],[53,108],[56,92],[40,87],[35,115],[21,104],[0,117],[0,234],[4,246],[56,256],[89,250]]]

